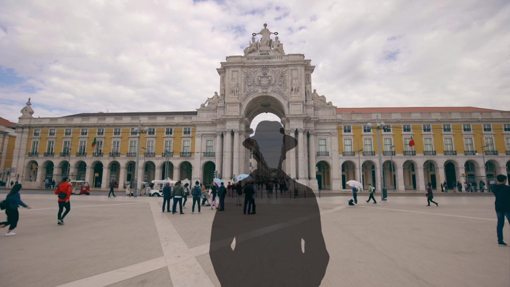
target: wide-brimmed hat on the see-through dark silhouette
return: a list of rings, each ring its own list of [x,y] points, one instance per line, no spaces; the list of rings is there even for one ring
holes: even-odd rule
[[[255,134],[243,141],[243,146],[247,149],[257,148],[258,140],[272,140],[278,134],[283,134],[282,146],[284,152],[290,151],[297,146],[297,140],[293,136],[285,133],[284,128],[279,122],[262,121],[257,125]]]

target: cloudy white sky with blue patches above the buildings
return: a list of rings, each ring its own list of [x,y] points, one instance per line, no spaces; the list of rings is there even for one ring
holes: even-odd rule
[[[510,2],[0,0],[0,116],[194,111],[263,23],[338,107],[510,110]]]

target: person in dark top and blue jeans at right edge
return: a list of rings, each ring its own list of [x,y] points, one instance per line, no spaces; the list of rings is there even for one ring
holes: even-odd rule
[[[496,197],[494,202],[496,208],[496,217],[498,218],[498,224],[496,226],[496,234],[498,236],[498,245],[507,246],[503,241],[503,226],[505,224],[505,217],[510,224],[510,186],[506,185],[506,176],[496,176],[498,184],[493,185],[492,192]]]

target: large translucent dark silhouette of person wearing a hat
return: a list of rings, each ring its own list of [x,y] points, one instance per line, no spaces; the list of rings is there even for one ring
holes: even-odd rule
[[[320,285],[329,254],[315,194],[281,169],[296,144],[279,122],[269,121],[243,142],[257,160],[258,169],[250,174],[254,182],[288,181],[299,196],[293,204],[259,202],[261,216],[243,216],[233,208],[215,214],[209,253],[221,286]]]

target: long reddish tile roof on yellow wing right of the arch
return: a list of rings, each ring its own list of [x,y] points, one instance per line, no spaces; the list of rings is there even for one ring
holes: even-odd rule
[[[377,112],[495,112],[501,110],[475,107],[381,107],[381,108],[337,108],[337,113]]]

